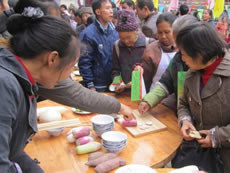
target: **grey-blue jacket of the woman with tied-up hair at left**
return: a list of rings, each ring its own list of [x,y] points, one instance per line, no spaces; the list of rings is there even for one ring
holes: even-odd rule
[[[37,131],[36,85],[29,82],[25,70],[13,54],[0,48],[0,170],[18,173],[42,173],[25,152],[29,138]],[[33,96],[33,99],[30,99]]]

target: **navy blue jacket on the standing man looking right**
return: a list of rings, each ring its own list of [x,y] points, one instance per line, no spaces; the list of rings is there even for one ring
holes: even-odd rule
[[[87,53],[80,57],[78,66],[80,74],[88,88],[105,89],[112,82],[112,49],[119,39],[112,23],[105,31],[95,20],[80,35],[87,44]]]

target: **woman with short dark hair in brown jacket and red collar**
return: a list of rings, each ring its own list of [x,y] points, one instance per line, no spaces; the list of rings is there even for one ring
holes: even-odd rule
[[[227,173],[230,170],[230,53],[216,31],[203,22],[182,29],[176,43],[182,60],[190,68],[178,106],[184,141],[175,159],[178,159],[176,167],[194,164],[210,173]],[[199,131],[202,138],[192,136],[193,130]]]

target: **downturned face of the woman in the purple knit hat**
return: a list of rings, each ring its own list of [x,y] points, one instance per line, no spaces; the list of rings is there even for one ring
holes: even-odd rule
[[[122,43],[124,43],[127,47],[132,47],[138,37],[137,31],[133,32],[119,32],[119,37]]]

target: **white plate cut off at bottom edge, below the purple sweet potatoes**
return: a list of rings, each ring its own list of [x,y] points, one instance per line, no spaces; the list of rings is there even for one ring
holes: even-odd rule
[[[145,165],[139,165],[139,164],[130,164],[123,166],[115,171],[115,173],[156,173],[155,170],[152,168],[145,166]]]

